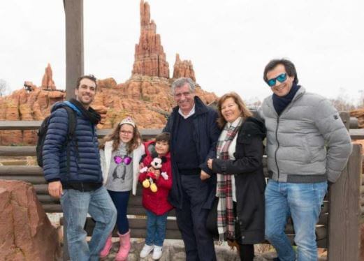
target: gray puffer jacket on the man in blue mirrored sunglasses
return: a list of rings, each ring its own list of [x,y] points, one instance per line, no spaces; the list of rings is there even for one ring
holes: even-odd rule
[[[267,128],[270,178],[282,182],[335,182],[352,151],[350,135],[335,107],[317,94],[297,91],[279,116],[272,96],[259,111]]]

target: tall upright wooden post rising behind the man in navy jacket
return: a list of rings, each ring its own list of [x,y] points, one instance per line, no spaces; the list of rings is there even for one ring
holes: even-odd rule
[[[83,64],[83,0],[64,1],[66,13],[66,98],[75,97],[78,77],[84,74]]]

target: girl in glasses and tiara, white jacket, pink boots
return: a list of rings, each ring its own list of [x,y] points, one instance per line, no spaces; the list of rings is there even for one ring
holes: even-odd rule
[[[139,161],[144,146],[138,127],[131,117],[126,117],[106,136],[100,144],[103,184],[117,209],[117,232],[120,247],[115,260],[126,260],[131,247],[129,222],[126,217],[130,191],[136,195]],[[100,253],[105,258],[112,246],[111,234]]]

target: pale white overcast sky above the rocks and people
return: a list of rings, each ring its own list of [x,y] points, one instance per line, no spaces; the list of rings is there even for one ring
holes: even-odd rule
[[[173,73],[175,54],[194,64],[196,82],[245,100],[271,94],[263,82],[270,59],[296,64],[308,91],[359,98],[364,90],[363,0],[150,0],[151,17]],[[85,73],[125,82],[140,35],[139,0],[84,0]],[[61,0],[0,4],[0,79],[10,89],[41,84],[45,66],[64,89]]]

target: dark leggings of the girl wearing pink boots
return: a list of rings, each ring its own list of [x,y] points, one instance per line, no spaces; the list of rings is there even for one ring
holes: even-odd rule
[[[130,191],[108,191],[108,193],[117,210],[117,231],[119,234],[125,234],[129,231],[129,221],[126,217],[126,209],[128,207]]]

